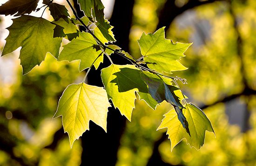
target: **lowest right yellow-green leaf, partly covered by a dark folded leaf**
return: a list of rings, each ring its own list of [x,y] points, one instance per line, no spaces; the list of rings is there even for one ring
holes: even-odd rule
[[[183,112],[189,123],[190,136],[184,128],[181,128],[181,123],[173,109],[164,115],[165,117],[157,130],[167,128],[168,138],[171,140],[171,150],[184,138],[190,147],[200,149],[204,143],[205,131],[214,133],[211,122],[203,111],[192,103],[187,104]]]

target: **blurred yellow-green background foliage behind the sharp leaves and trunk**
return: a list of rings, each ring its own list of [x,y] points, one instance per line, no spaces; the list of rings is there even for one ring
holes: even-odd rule
[[[180,83],[183,92],[203,109],[216,136],[206,132],[199,151],[182,140],[171,152],[166,131],[156,131],[171,108],[163,102],[154,111],[136,100],[116,166],[255,166],[256,1],[135,0],[131,55],[141,56],[137,39],[155,32],[166,17],[174,18],[165,22],[166,38],[194,43],[181,60],[189,70],[174,74],[187,79],[188,84]],[[6,32],[4,19],[0,16],[0,35]],[[48,54],[22,76],[18,54],[19,49],[0,57],[0,165],[80,165],[81,141],[70,149],[61,118],[52,119],[63,90],[84,76],[79,62],[58,62]]]

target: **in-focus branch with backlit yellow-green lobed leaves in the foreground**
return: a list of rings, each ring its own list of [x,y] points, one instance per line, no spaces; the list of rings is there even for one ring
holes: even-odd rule
[[[27,6],[27,3],[31,5]],[[103,56],[111,62],[110,66],[101,70],[104,88],[85,83],[86,74],[81,83],[70,84],[59,100],[54,117],[62,116],[63,128],[69,135],[71,147],[76,139],[89,130],[89,121],[94,121],[107,132],[107,113],[108,107],[111,107],[109,99],[121,115],[131,121],[136,94],[152,109],[163,101],[173,106],[174,109],[165,114],[158,128],[168,128],[172,148],[186,138],[191,146],[198,149],[204,142],[205,131],[214,132],[202,110],[186,102],[176,82],[177,77],[171,77],[173,71],[187,69],[179,60],[185,57],[184,52],[191,44],[173,43],[166,39],[163,27],[153,34],[141,35],[138,44],[142,57],[135,59],[113,44],[113,26],[105,19],[101,0],[78,0],[84,13],[82,18],[77,16],[69,0],[67,3],[75,18],[70,17],[66,6],[43,0],[53,21],[24,15],[34,11],[37,3],[38,0],[9,0],[0,6],[0,14],[20,16],[13,19],[13,25],[7,28],[10,34],[2,56],[21,46],[23,74],[40,65],[47,52],[59,61],[80,61],[79,71],[88,69],[87,74],[93,66],[97,69],[103,63]],[[86,31],[81,31],[79,26]],[[60,51],[63,38],[69,42]],[[113,53],[126,58],[131,64],[113,64]]]

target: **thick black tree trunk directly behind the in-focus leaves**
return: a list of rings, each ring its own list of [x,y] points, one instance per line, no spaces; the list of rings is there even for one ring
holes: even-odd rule
[[[132,20],[132,10],[134,0],[116,0],[110,24],[113,29],[116,45],[123,50],[128,51],[129,31]],[[117,55],[112,55],[115,64],[127,64],[128,62]],[[108,59],[104,58],[104,63],[108,64]],[[109,64],[108,64],[109,65]],[[88,83],[90,85],[103,86],[100,69],[108,65],[101,65],[98,70],[92,69],[88,74]],[[107,120],[107,132],[90,122],[90,131],[82,135],[82,162],[81,166],[115,166],[117,160],[117,151],[120,146],[120,138],[127,119],[122,116],[119,110],[109,108]]]

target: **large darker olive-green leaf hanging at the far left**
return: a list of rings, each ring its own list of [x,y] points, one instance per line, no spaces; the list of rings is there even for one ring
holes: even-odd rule
[[[21,46],[20,64],[23,68],[23,74],[27,74],[34,66],[39,65],[45,59],[47,52],[58,57],[61,38],[53,38],[54,25],[48,20],[23,15],[13,19],[13,25],[7,29],[10,34],[6,38],[2,55]]]

